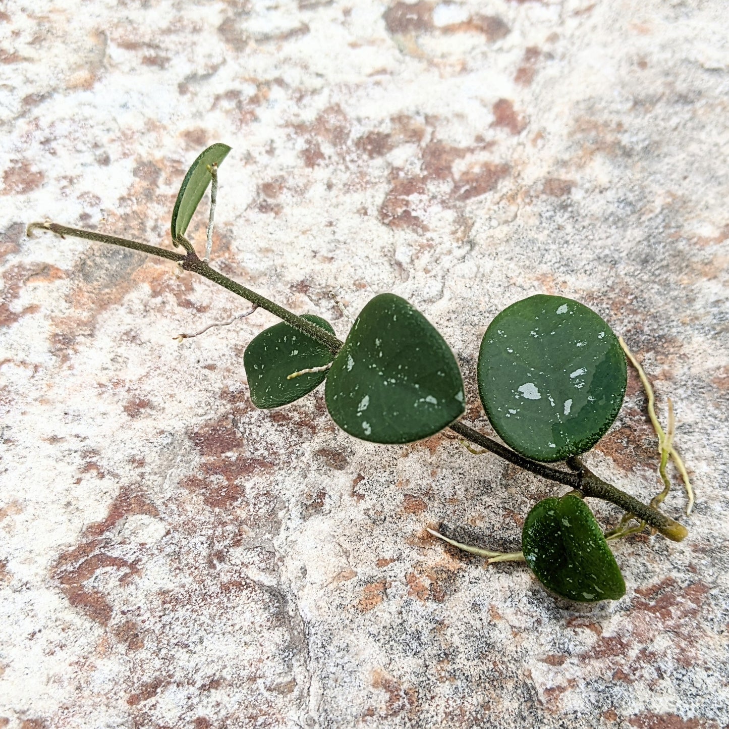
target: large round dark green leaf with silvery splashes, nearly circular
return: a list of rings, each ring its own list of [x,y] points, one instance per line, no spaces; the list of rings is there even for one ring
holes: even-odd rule
[[[486,330],[478,390],[496,433],[534,460],[593,447],[620,410],[625,355],[607,323],[562,296],[507,306]]]

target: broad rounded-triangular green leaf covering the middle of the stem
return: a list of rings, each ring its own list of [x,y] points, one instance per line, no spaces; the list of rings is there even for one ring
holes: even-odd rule
[[[391,293],[375,296],[356,318],[325,396],[340,428],[375,443],[426,438],[464,411],[453,352],[417,309]]]

